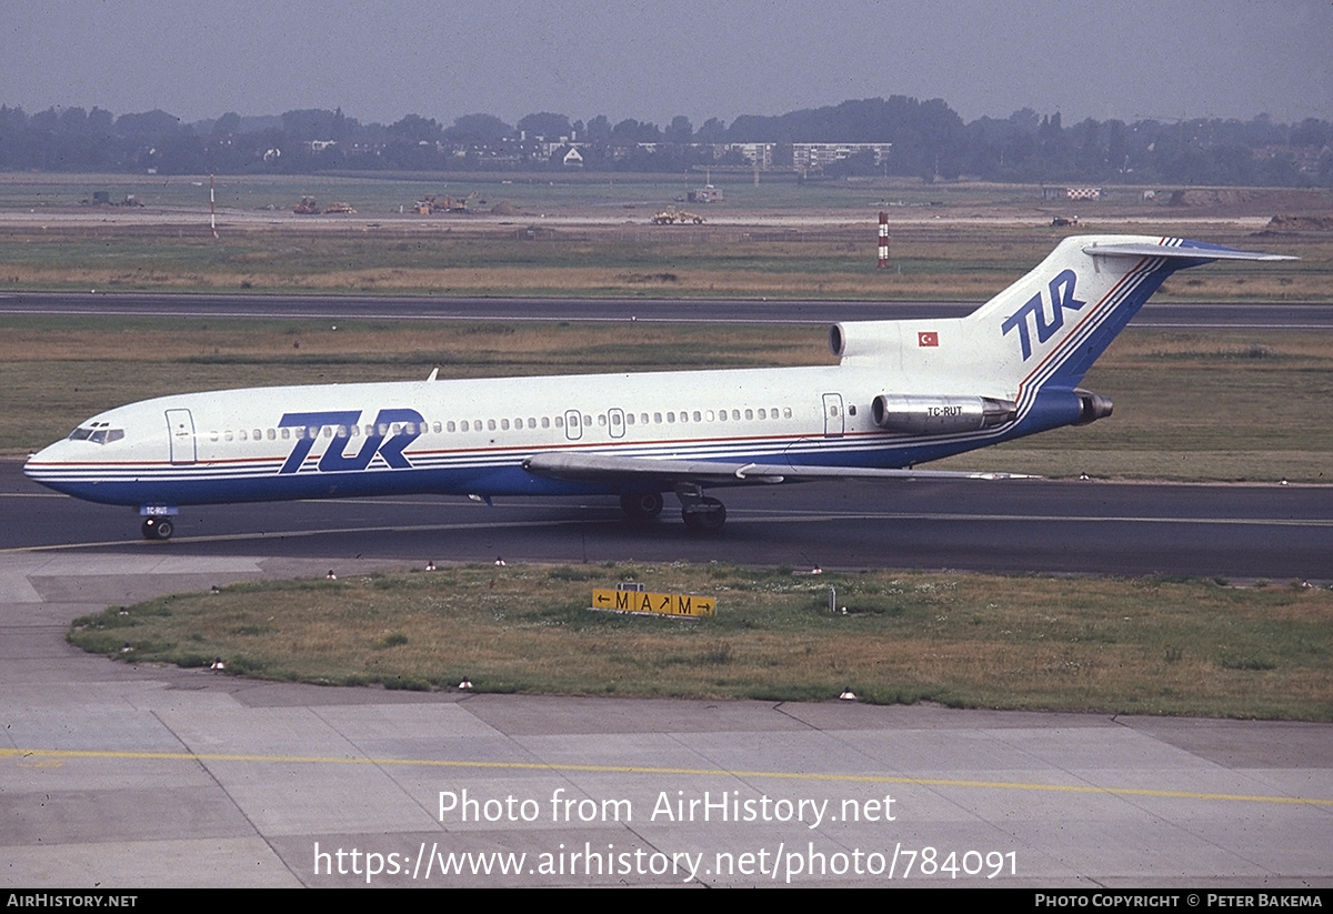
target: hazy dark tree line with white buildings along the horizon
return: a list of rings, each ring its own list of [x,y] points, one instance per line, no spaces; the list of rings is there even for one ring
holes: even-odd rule
[[[265,117],[229,112],[184,123],[163,111],[115,116],[101,108],[48,108],[28,115],[0,105],[0,171],[157,172],[163,175],[312,173],[323,171],[585,171],[680,172],[693,165],[748,165],[744,144],[770,144],[769,163],[792,164],[794,143],[890,143],[880,161],[854,152],[825,177],[917,176],[1021,183],[1333,185],[1333,123],[1278,124],[1196,119],[1133,123],[1030,108],[964,123],[940,99],[849,100],[785,115],[710,117],[696,128],[605,115],[571,120],[531,113],[516,124],[464,115],[449,125],[420,115],[392,124],[341,109]],[[576,149],[575,156],[569,151]]]

